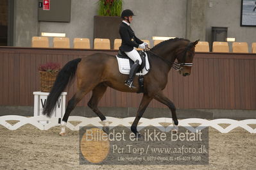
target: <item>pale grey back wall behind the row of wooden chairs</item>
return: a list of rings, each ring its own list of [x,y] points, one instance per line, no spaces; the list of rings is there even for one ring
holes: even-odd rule
[[[256,27],[240,26],[241,0],[205,1],[206,41],[211,40],[211,27],[221,26],[228,27],[228,37],[235,37],[237,42],[248,42],[249,47],[252,42],[256,42]],[[38,22],[37,1],[15,0],[15,46],[30,47],[31,37],[40,36],[41,32],[66,33],[71,38],[71,47],[76,37],[90,38],[92,45],[97,2],[71,1],[71,22]],[[210,2],[213,3],[211,8]],[[131,9],[137,15],[133,18],[132,27],[141,39],[151,40],[152,36],[186,36],[187,0],[123,0],[123,9]],[[196,24],[198,22],[189,26]]]

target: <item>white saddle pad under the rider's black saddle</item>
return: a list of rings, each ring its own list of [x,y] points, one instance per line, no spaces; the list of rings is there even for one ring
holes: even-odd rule
[[[146,53],[145,53],[146,54]],[[115,56],[117,58],[117,56]],[[117,58],[118,66],[119,66],[119,72],[123,74],[129,74],[130,73],[130,61],[126,58]],[[146,61],[145,66],[142,69],[141,72],[136,73],[136,75],[146,75],[149,71],[149,62],[148,62],[148,55],[146,54]]]

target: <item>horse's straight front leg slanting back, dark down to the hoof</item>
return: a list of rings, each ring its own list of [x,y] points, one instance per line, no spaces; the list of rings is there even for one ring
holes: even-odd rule
[[[140,137],[140,134],[137,131],[137,125],[138,125],[139,120],[141,119],[143,113],[145,112],[146,108],[148,107],[148,104],[151,102],[152,99],[153,98],[149,97],[147,94],[145,94],[145,93],[143,94],[141,104],[139,105],[139,109],[136,114],[136,118],[132,123],[131,130],[138,137]]]

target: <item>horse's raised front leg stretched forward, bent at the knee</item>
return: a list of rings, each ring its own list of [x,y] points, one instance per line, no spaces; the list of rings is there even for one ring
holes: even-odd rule
[[[173,128],[174,128],[173,130],[178,132],[178,119],[176,116],[176,107],[173,104],[173,102],[171,102],[169,98],[165,97],[162,91],[157,93],[154,98],[158,102],[161,102],[162,104],[167,105],[167,107],[169,107],[169,109],[171,110],[171,116],[173,118]]]

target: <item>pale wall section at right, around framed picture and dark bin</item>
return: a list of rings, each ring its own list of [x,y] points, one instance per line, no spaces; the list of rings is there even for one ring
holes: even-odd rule
[[[249,52],[252,42],[256,42],[256,27],[241,27],[241,0],[207,0],[206,40],[211,40],[211,27],[228,27],[228,37],[235,37],[236,42],[248,42]],[[213,6],[210,8],[209,3]],[[229,43],[232,51],[232,43]]]

